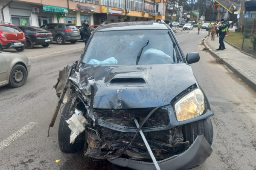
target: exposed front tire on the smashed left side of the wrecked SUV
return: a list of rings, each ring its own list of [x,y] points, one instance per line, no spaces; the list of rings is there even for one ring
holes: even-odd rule
[[[68,102],[63,111],[61,112],[61,119],[58,128],[58,144],[61,152],[64,153],[75,153],[78,151],[84,144],[83,140],[80,140],[79,137],[76,138],[76,141],[70,144],[70,134],[71,130],[68,127],[68,124],[65,120],[70,118],[70,107],[71,102]]]

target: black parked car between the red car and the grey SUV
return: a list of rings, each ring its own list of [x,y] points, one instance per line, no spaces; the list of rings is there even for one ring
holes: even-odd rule
[[[53,41],[52,33],[35,26],[18,26],[25,34],[26,48],[34,48],[35,45],[48,47]]]

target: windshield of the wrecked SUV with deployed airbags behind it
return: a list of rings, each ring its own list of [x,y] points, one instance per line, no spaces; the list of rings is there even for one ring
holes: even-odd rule
[[[96,32],[82,62],[97,65],[136,65],[142,46],[149,43],[140,56],[139,65],[172,64],[179,53],[173,47],[169,30],[130,30]],[[176,61],[176,62],[175,62]]]

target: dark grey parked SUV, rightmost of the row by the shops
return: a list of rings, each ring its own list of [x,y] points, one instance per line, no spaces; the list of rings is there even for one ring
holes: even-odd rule
[[[41,28],[51,31],[53,41],[56,41],[57,44],[64,44],[66,41],[74,44],[81,39],[80,31],[75,24],[49,23],[44,24]]]

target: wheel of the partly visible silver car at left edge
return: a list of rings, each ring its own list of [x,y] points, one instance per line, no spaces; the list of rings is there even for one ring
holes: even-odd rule
[[[12,88],[18,88],[20,86],[23,86],[27,79],[27,71],[26,68],[23,67],[23,65],[15,65],[10,73],[9,77],[9,87]]]

